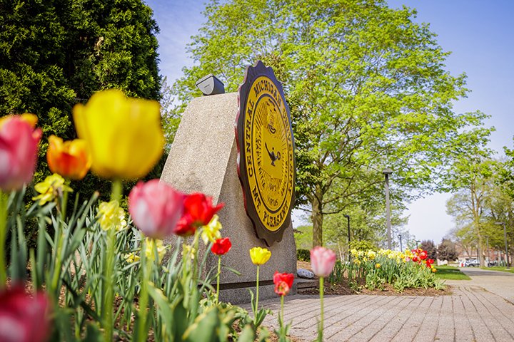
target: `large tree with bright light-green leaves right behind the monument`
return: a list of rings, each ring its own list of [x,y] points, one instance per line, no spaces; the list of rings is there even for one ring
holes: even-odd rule
[[[258,59],[283,83],[296,139],[297,205],[311,212],[313,245],[323,218],[369,187],[392,181],[430,192],[445,187],[448,165],[487,140],[483,113],[456,114],[465,76],[444,69],[435,33],[415,11],[384,0],[211,1],[188,46],[196,62],[173,85],[180,112],[194,83],[215,73],[236,91]]]

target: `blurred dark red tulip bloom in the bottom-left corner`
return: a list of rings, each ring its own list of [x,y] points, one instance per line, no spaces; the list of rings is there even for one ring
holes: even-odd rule
[[[51,333],[50,301],[44,292],[29,296],[21,286],[0,294],[0,341],[44,342]]]

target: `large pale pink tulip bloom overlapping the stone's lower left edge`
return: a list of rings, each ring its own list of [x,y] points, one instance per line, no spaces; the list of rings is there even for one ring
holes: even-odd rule
[[[129,212],[146,237],[163,239],[175,232],[183,194],[159,180],[138,182],[129,195]]]

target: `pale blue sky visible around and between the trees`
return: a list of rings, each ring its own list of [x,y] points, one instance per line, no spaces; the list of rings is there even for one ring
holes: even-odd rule
[[[148,0],[161,28],[158,35],[160,68],[168,82],[181,76],[183,66],[193,61],[186,44],[203,23],[203,0]],[[481,110],[491,115],[486,126],[494,126],[490,147],[500,152],[513,147],[514,135],[514,14],[513,0],[389,0],[393,8],[403,4],[418,10],[415,21],[430,24],[438,43],[451,51],[446,66],[450,73],[465,72],[471,93],[455,103],[457,113]],[[501,155],[501,152],[500,152]],[[393,181],[394,178],[391,179]],[[407,225],[417,239],[437,244],[454,227],[445,214],[449,194],[420,199],[408,206]],[[297,220],[298,222],[298,220]]]

